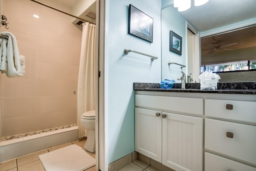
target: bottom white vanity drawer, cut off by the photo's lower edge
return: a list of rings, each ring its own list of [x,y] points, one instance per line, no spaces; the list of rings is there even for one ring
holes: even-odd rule
[[[256,167],[207,152],[204,161],[205,171],[256,171]]]

